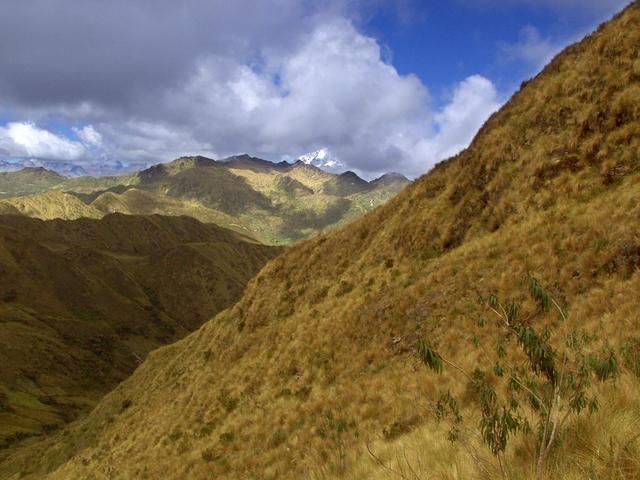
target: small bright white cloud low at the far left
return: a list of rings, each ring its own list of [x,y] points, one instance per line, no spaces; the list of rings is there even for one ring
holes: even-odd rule
[[[85,154],[81,143],[28,122],[12,122],[5,127],[0,126],[0,149],[11,157],[64,161],[76,161]]]

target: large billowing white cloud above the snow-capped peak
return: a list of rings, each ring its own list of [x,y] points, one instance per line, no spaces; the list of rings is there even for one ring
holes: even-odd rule
[[[148,106],[149,118],[168,124],[129,121],[124,131],[110,127],[107,137],[141,159],[178,146],[183,153],[247,151],[272,159],[328,148],[365,176],[388,169],[418,175],[468,143],[498,106],[493,84],[474,76],[434,111],[417,77],[400,75],[374,39],[334,19],[287,55],[266,57],[260,69],[203,60],[185,85]]]

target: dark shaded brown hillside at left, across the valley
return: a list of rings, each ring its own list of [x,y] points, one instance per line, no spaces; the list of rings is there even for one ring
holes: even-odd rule
[[[93,407],[278,252],[187,217],[1,216],[0,449]]]

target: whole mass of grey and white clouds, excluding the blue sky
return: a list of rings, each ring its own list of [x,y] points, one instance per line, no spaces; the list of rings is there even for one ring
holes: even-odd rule
[[[82,125],[71,139],[21,124],[48,139],[39,155],[96,170],[328,148],[367,176],[421,174],[469,142],[498,94],[473,76],[435,109],[420,79],[398,73],[359,31],[352,12],[361,3],[11,2],[0,16],[0,98],[39,124],[55,115]],[[5,143],[11,155],[31,155]]]

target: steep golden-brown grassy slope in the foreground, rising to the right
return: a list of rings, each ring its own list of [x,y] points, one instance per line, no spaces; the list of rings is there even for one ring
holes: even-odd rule
[[[498,478],[490,464],[474,470],[467,452],[480,446],[436,435],[430,402],[464,392],[455,372],[427,370],[416,344],[473,371],[495,355],[491,325],[475,339],[490,351],[471,338],[484,323],[478,294],[529,307],[532,273],[568,310],[566,328],[587,329],[593,349],[631,352],[637,368],[638,45],[636,2],[523,85],[469,149],[268,263],[235,306],[153,352],[85,420],[7,456],[0,473],[396,478],[366,443],[387,467],[410,457],[419,475],[405,466],[404,478]],[[572,420],[550,478],[638,478],[638,390],[625,373],[599,413]],[[408,437],[420,448],[393,450]],[[509,451],[512,478],[531,478],[518,468],[532,455],[526,442]]]

